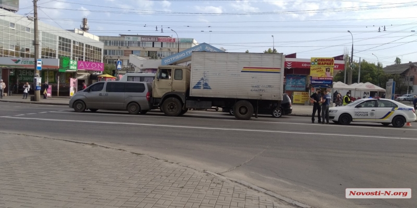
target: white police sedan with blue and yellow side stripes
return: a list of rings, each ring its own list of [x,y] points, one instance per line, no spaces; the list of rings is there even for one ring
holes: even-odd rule
[[[401,128],[406,122],[416,120],[413,107],[388,99],[360,99],[345,106],[331,107],[329,117],[335,123],[349,125],[353,122],[392,124]]]

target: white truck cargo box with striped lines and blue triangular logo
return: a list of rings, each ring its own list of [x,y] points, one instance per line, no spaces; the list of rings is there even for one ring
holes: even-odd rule
[[[192,52],[190,96],[282,100],[283,54]]]

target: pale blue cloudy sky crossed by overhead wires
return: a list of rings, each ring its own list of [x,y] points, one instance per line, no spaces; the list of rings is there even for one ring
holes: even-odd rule
[[[227,52],[297,53],[384,65],[417,61],[417,1],[412,0],[38,0],[40,21],[98,36],[194,38]],[[32,0],[18,14],[32,15]],[[385,29],[384,29],[385,28]],[[348,32],[351,31],[352,35]],[[380,31],[379,31],[380,30]],[[385,31],[384,31],[385,30]],[[415,31],[413,31],[415,30]],[[272,37],[273,36],[273,37]]]

